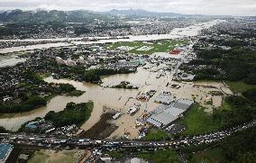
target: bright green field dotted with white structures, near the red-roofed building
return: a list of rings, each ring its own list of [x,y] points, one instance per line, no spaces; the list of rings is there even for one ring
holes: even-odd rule
[[[160,40],[160,41],[132,41],[132,42],[115,42],[107,44],[108,50],[115,50],[116,48],[127,46],[132,47],[133,50],[129,50],[134,54],[152,54],[154,52],[169,52],[176,48],[176,45],[187,43],[187,41],[175,41],[175,40]],[[151,47],[151,50],[139,50],[143,46]]]

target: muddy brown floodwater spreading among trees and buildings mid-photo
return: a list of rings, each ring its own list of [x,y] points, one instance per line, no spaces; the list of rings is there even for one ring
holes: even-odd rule
[[[69,79],[53,79],[52,77],[47,77],[44,79],[46,82],[69,83],[75,86],[78,90],[86,91],[86,93],[78,97],[57,95],[56,97],[52,98],[46,106],[32,110],[31,112],[4,114],[2,113],[0,114],[0,124],[1,126],[4,126],[7,130],[17,131],[20,128],[21,124],[23,124],[23,122],[27,122],[36,117],[43,117],[46,113],[50,111],[59,112],[63,110],[66,104],[68,104],[69,102],[84,103],[91,100],[95,104],[93,112],[91,113],[91,116],[87,120],[87,122],[85,122],[81,126],[81,129],[87,131],[91,127],[93,127],[96,122],[100,120],[100,116],[102,115],[103,108],[105,106],[107,108],[111,108],[123,113],[120,118],[113,121],[113,123],[118,126],[118,129],[115,130],[109,138],[123,135],[124,131],[129,131],[130,138],[133,139],[138,136],[138,131],[140,129],[135,128],[136,119],[142,117],[146,106],[147,111],[151,112],[156,106],[159,105],[154,102],[154,99],[162,91],[169,91],[177,98],[193,99],[194,95],[194,97],[196,96],[195,100],[200,104],[206,103],[206,98],[212,91],[221,91],[221,89],[226,90],[227,92],[230,91],[220,82],[203,82],[197,84],[199,86],[194,86],[192,82],[174,82],[172,81],[172,74],[170,72],[167,72],[167,75],[165,77],[156,77],[156,72],[151,72],[143,68],[138,68],[138,71],[132,74],[121,74],[105,77],[103,78],[102,86],[77,82]],[[140,85],[140,87],[139,89],[132,90],[106,87],[123,80],[129,81],[132,84]],[[179,89],[171,88],[170,86],[166,86],[168,82],[170,84],[178,84],[181,87]],[[150,89],[156,90],[157,93],[153,95],[147,103],[136,100],[136,96],[140,92],[144,92]],[[220,96],[215,96],[215,107],[220,106],[221,102],[222,98]],[[130,106],[133,106],[133,104],[141,104],[141,107],[139,112],[135,113],[133,116],[130,116],[126,112]]]

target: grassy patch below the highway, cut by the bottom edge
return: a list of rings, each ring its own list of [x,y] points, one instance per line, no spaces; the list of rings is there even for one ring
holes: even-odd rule
[[[144,158],[150,160],[153,163],[163,163],[171,162],[176,163],[180,162],[178,154],[172,149],[159,150],[159,151],[149,151],[149,152],[140,152],[137,155],[138,158]]]

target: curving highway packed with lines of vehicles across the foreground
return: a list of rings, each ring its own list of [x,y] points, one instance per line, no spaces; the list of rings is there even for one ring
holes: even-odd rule
[[[87,148],[178,148],[183,145],[212,143],[230,136],[236,131],[242,131],[255,126],[256,121],[243,123],[224,131],[215,131],[204,135],[163,141],[143,140],[90,140],[85,138],[59,138],[50,135],[29,133],[1,133],[0,142],[15,146],[38,149],[87,149]]]

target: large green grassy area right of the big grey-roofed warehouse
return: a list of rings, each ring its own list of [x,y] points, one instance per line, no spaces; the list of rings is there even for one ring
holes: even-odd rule
[[[178,123],[186,125],[187,130],[182,135],[195,135],[209,131],[215,131],[221,127],[221,122],[214,120],[212,114],[208,114],[205,108],[194,104],[187,113],[178,120]]]

